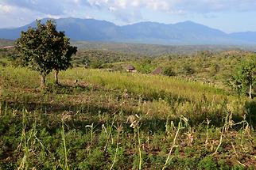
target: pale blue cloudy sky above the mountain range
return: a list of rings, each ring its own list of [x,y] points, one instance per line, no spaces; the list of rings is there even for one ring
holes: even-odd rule
[[[195,21],[224,32],[256,31],[256,0],[0,0],[0,28],[44,17],[139,21]]]

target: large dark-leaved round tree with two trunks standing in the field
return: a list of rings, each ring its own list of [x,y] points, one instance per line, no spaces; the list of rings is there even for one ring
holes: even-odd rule
[[[55,81],[58,83],[59,71],[71,66],[71,57],[77,51],[64,32],[56,31],[52,21],[45,24],[37,21],[37,28],[29,27],[26,32],[21,32],[16,49],[21,64],[40,73],[41,88],[45,87],[45,77],[52,70],[55,70]]]

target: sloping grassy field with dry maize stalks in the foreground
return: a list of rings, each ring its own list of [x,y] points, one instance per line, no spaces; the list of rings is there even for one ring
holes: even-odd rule
[[[256,100],[177,77],[0,67],[0,169],[255,169]]]

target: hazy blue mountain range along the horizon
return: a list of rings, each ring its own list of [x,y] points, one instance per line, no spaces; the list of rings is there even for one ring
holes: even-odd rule
[[[44,23],[49,18],[42,19]],[[192,21],[176,24],[139,22],[133,25],[114,25],[109,21],[95,19],[60,18],[54,20],[59,31],[78,41],[149,43],[177,45],[246,45],[256,44],[256,32],[225,33]],[[15,40],[21,31],[36,27],[36,21],[19,28],[0,28],[0,38]]]

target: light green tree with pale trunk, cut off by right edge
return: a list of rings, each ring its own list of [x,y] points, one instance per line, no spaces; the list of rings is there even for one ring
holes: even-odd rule
[[[249,93],[251,99],[252,88],[256,80],[256,55],[249,55],[239,63],[235,74],[231,78],[231,86],[239,93]],[[249,92],[248,92],[249,91]]]

